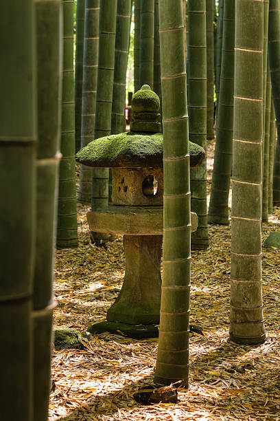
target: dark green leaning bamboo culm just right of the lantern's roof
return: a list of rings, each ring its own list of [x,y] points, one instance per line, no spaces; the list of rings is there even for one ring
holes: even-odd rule
[[[220,105],[208,210],[210,224],[229,224],[229,188],[233,153],[234,39],[235,0],[227,0],[224,3]]]

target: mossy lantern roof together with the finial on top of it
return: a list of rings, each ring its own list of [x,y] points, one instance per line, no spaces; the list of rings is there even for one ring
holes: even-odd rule
[[[132,96],[130,131],[93,140],[81,149],[76,160],[93,167],[143,168],[163,166],[163,133],[160,100],[149,85],[143,85]],[[189,142],[190,166],[205,158],[198,144]]]

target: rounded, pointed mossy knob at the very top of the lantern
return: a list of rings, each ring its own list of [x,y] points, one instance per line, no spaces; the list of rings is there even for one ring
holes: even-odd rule
[[[132,112],[159,112],[161,102],[149,85],[143,85],[139,91],[132,96]]]

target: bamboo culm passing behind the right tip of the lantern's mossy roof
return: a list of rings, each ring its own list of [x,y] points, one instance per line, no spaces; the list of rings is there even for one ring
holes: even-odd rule
[[[188,112],[189,140],[207,150],[207,46],[206,2],[189,0],[188,19]],[[207,228],[206,156],[198,168],[191,169],[191,210],[198,215],[198,229],[191,234],[191,248],[209,246]]]

